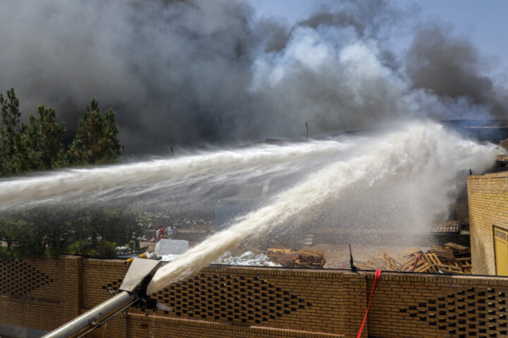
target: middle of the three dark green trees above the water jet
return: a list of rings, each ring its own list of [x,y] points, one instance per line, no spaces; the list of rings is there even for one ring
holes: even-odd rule
[[[56,123],[55,108],[41,104],[37,117],[30,114],[23,134],[23,143],[30,169],[47,170],[68,165],[63,148],[65,123]]]

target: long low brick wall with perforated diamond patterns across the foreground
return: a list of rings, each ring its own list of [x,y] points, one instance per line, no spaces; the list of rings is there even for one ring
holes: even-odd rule
[[[54,329],[109,299],[127,269],[2,261],[0,323]],[[156,294],[174,312],[131,307],[89,337],[356,337],[372,287],[373,273],[210,265]],[[507,302],[504,277],[382,273],[363,337],[508,337]]]

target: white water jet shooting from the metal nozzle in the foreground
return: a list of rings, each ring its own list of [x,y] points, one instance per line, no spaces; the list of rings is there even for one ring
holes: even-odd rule
[[[410,125],[404,131],[393,132],[373,141],[362,154],[329,164],[309,175],[266,206],[245,215],[229,229],[214,234],[160,268],[150,282],[147,294],[198,272],[224,251],[281,225],[288,218],[332,196],[347,198],[347,193],[352,189],[390,184],[409,175],[427,175],[428,180],[453,184],[458,170],[481,170],[495,158],[495,146],[492,144],[479,145],[462,139],[435,123]]]

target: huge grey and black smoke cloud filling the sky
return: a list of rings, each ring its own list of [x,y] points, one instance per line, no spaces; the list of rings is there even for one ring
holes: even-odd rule
[[[348,0],[289,25],[241,0],[5,1],[0,89],[16,89],[25,115],[56,107],[68,130],[96,96],[135,154],[300,138],[306,122],[315,136],[501,116],[506,89],[447,24],[420,24],[394,48],[414,15]]]

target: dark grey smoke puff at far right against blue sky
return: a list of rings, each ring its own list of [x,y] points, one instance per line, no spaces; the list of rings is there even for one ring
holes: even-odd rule
[[[435,21],[418,27],[406,54],[406,73],[413,86],[442,98],[467,99],[483,106],[492,117],[504,118],[506,89],[484,74],[485,60],[473,44],[450,32],[451,25]]]

